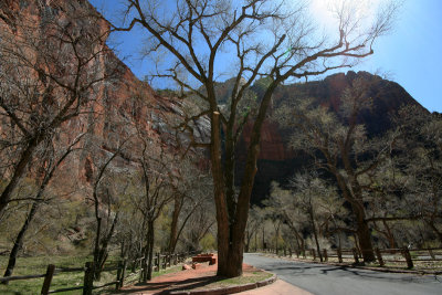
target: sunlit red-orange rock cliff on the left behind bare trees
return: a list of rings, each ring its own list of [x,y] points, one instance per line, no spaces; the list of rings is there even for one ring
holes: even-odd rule
[[[96,22],[86,21],[95,19]],[[43,29],[46,23],[54,22],[64,27],[65,30],[77,31],[91,40],[99,35],[107,35],[108,23],[101,18],[95,8],[86,0],[2,0],[0,1],[0,29],[10,32],[18,39],[23,35],[21,25],[24,22],[32,24],[35,29],[35,40],[44,39]],[[1,42],[1,40],[0,40]],[[98,146],[99,152],[108,154],[116,149],[118,141],[127,136],[125,123],[136,124],[152,141],[158,145],[170,145],[175,136],[168,127],[167,120],[179,117],[180,103],[172,98],[157,95],[151,87],[139,81],[131,71],[107,48],[105,38],[96,44],[103,56],[91,60],[91,69],[98,69],[96,76],[109,76],[104,83],[97,83],[91,99],[84,106],[84,113],[62,125],[60,143],[66,145],[75,136],[86,130],[91,134],[91,141]],[[32,53],[30,54],[32,55]],[[39,52],[35,52],[38,63]],[[65,61],[69,63],[70,61]],[[66,73],[69,75],[69,73]],[[92,125],[91,122],[94,124]],[[127,125],[126,125],[127,126]],[[1,130],[1,127],[0,127]],[[200,135],[202,136],[202,135]],[[134,150],[136,146],[131,147]],[[130,154],[130,152],[129,152]],[[92,156],[88,151],[70,157],[64,168],[69,168],[62,179],[80,179],[80,185],[91,181],[94,167]],[[125,159],[118,159],[119,166],[133,165],[130,155]],[[61,169],[67,170],[67,169]],[[63,181],[62,181],[63,182]],[[87,186],[86,186],[87,187]]]

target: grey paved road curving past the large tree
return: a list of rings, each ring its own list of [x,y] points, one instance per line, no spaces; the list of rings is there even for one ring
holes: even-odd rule
[[[442,276],[381,273],[244,254],[244,262],[270,271],[316,295],[442,294]]]

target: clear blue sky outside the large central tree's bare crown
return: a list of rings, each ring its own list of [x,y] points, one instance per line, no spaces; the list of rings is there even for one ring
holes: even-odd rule
[[[322,0],[313,1],[320,6]],[[123,0],[90,2],[107,19],[120,15]],[[110,43],[136,76],[149,72],[152,65],[140,59],[143,31],[115,33]],[[430,112],[442,113],[442,0],[404,0],[393,31],[379,39],[375,54],[352,71],[387,73]]]

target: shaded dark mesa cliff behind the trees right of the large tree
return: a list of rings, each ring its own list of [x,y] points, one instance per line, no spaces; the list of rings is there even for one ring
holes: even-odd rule
[[[359,116],[359,122],[365,124],[368,136],[378,136],[391,128],[391,115],[402,105],[419,105],[399,84],[367,72],[355,73],[350,71],[347,74],[338,73],[327,76],[323,81],[278,87],[267,114],[271,115],[281,105],[298,99],[298,97],[312,97],[315,104],[328,106],[338,114],[343,92],[351,85],[355,78],[372,82],[369,88],[373,98],[372,108]],[[241,181],[240,177],[243,169],[241,164],[245,160],[250,130],[251,125],[245,126],[242,141],[239,145],[238,182]],[[267,196],[272,181],[284,183],[287,178],[306,164],[305,155],[288,147],[287,140],[292,133],[291,129],[281,128],[276,122],[271,119],[271,116],[266,119],[262,131],[257,173],[252,192],[253,203],[259,203]]]

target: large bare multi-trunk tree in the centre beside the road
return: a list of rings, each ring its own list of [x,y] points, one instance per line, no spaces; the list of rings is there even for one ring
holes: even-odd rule
[[[218,221],[218,275],[242,274],[244,231],[261,128],[275,88],[286,81],[316,76],[352,65],[373,53],[372,44],[391,25],[393,4],[362,28],[349,6],[336,9],[336,34],[320,36],[304,1],[272,0],[127,0],[124,24],[140,27],[148,41],[147,54],[164,55],[158,76],[173,80],[186,93],[200,98],[200,116],[211,123],[211,170]],[[228,66],[225,66],[228,64]],[[161,69],[166,69],[161,71]],[[233,76],[228,102],[217,95],[222,71]],[[244,107],[249,87],[267,77],[255,107]],[[245,123],[251,123],[245,168],[235,189],[235,146]],[[223,131],[221,131],[223,130]],[[199,146],[204,146],[199,144]],[[223,155],[223,157],[221,157]]]

